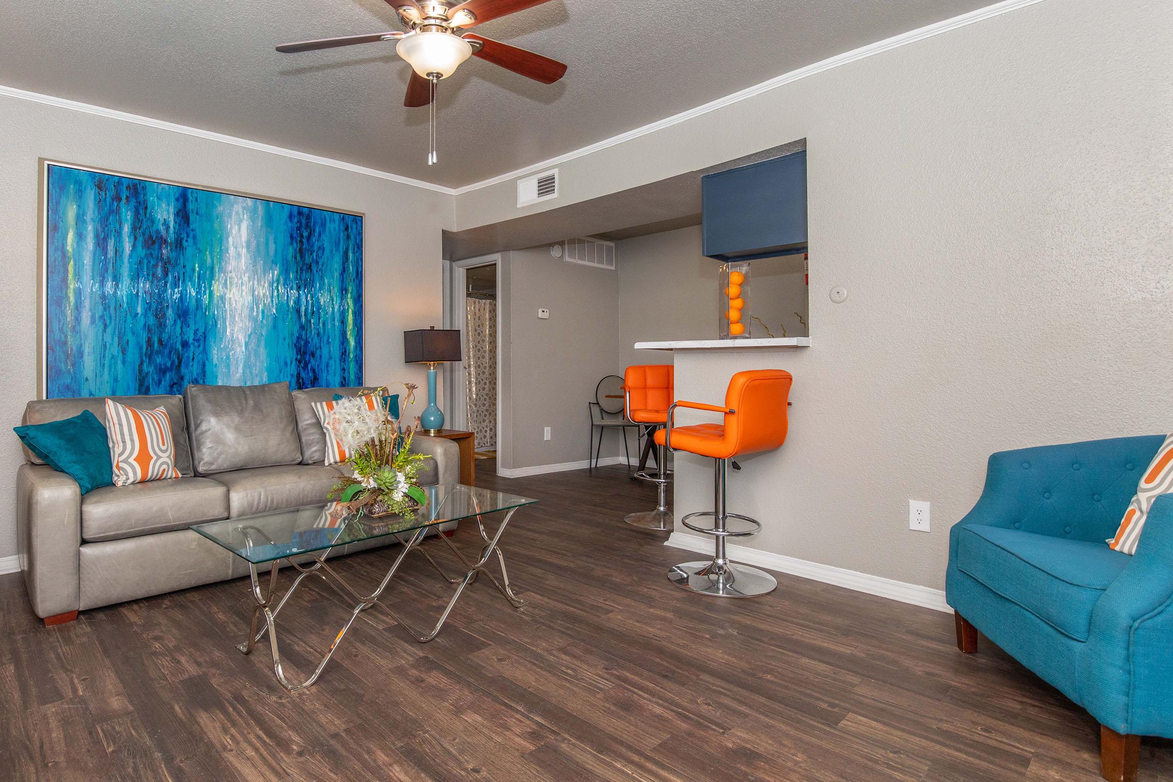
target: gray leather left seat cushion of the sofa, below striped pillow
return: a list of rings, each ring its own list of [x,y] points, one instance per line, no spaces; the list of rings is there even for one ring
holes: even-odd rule
[[[83,540],[117,540],[228,518],[228,489],[209,478],[102,487],[81,498]]]

